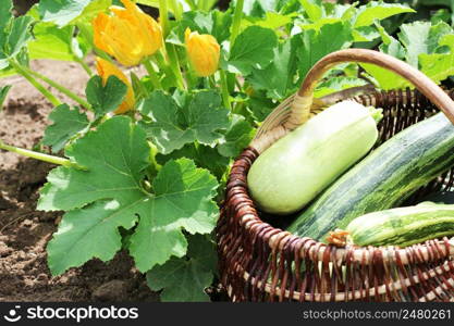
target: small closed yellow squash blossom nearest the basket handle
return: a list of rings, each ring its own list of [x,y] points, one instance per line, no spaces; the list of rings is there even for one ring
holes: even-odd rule
[[[197,76],[206,77],[214,74],[219,64],[220,47],[214,37],[208,34],[185,30],[187,57]]]

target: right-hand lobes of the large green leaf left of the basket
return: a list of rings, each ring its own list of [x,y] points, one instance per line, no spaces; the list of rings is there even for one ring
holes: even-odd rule
[[[211,198],[217,187],[216,178],[191,160],[165,163],[154,180],[155,196],[136,208],[140,221],[130,251],[139,271],[186,253],[182,227],[189,234],[208,234],[214,228],[219,211]]]

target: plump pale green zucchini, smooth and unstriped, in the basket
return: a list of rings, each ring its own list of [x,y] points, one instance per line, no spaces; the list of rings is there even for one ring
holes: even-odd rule
[[[372,148],[380,117],[381,110],[344,101],[310,118],[254,162],[251,198],[267,213],[300,210]]]

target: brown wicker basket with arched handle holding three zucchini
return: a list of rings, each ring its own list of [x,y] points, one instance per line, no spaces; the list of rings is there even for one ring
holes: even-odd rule
[[[339,62],[367,62],[389,68],[417,90],[354,89],[312,100],[317,80]],[[452,96],[452,93],[450,93]],[[450,96],[405,63],[370,50],[331,53],[309,72],[302,89],[263,122],[250,146],[235,161],[217,227],[221,281],[233,301],[453,301],[454,238],[396,247],[336,248],[299,238],[261,221],[249,198],[246,176],[257,156],[310,114],[342,99],[383,109],[380,137],[385,140],[441,109],[454,122]],[[416,196],[447,189],[454,170],[419,189]]]

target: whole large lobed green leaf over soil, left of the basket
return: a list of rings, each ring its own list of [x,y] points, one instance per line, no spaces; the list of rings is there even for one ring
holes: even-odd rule
[[[146,134],[126,116],[114,116],[77,139],[66,155],[85,170],[60,166],[40,191],[39,210],[70,211],[49,242],[49,267],[61,274],[91,258],[110,260],[122,248],[119,227],[131,229],[130,252],[146,272],[186,253],[183,229],[210,233],[219,214],[218,183],[191,160],[169,161],[143,187],[149,166]]]

